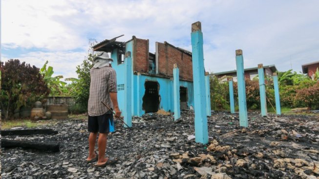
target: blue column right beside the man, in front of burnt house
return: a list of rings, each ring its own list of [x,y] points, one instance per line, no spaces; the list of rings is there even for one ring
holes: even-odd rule
[[[125,53],[125,75],[124,75],[124,122],[128,124],[129,127],[132,127],[132,58],[131,52],[128,51]],[[124,124],[123,124],[124,125]],[[124,125],[124,127],[127,127]]]

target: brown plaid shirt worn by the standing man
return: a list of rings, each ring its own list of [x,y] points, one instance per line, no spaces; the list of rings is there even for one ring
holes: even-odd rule
[[[116,72],[112,67],[92,68],[90,71],[90,95],[88,98],[87,112],[89,116],[111,113],[102,103],[113,109],[109,92],[117,92]]]

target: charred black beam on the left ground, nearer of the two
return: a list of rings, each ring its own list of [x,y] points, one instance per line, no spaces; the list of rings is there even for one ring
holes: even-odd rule
[[[44,143],[36,141],[25,141],[25,140],[9,140],[1,138],[1,148],[9,147],[22,147],[25,149],[36,149],[41,151],[58,152],[60,150],[60,144],[56,143]]]

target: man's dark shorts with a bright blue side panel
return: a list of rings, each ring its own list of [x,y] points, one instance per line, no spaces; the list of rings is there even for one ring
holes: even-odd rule
[[[114,132],[113,114],[105,113],[99,116],[88,116],[87,131],[103,134]]]

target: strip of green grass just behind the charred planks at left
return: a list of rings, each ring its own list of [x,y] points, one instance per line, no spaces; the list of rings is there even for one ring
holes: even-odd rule
[[[47,125],[52,122],[53,122],[52,120],[33,121],[31,119],[13,119],[13,120],[1,121],[1,129],[11,129],[14,127],[32,128],[32,127]]]

